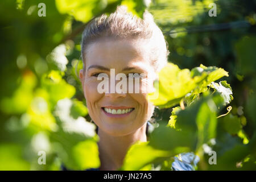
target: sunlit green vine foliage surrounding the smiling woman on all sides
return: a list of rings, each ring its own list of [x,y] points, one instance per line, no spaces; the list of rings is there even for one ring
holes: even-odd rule
[[[77,78],[81,33],[121,4],[140,17],[150,11],[171,54],[148,97],[155,129],[129,148],[120,170],[171,170],[183,152],[199,156],[197,170],[256,169],[254,1],[45,0],[39,17],[40,2],[0,2],[0,170],[100,166]],[[217,17],[208,16],[212,2]],[[216,165],[208,162],[212,150]]]

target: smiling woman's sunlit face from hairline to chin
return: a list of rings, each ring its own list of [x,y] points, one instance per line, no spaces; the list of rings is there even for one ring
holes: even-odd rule
[[[143,92],[153,88],[152,76],[155,73],[147,56],[147,44],[133,39],[109,38],[90,43],[85,55],[85,71],[80,71],[80,78],[88,112],[94,123],[113,136],[123,136],[138,130],[154,111],[154,105],[147,100],[147,93]],[[133,80],[133,87],[139,86],[140,92],[128,92],[128,78],[126,93],[98,92],[98,84],[102,82],[97,79],[100,73],[108,75],[110,88],[110,69],[114,69],[114,76],[118,73],[127,76],[129,73],[143,73],[139,85]],[[118,82],[115,80],[114,84]]]

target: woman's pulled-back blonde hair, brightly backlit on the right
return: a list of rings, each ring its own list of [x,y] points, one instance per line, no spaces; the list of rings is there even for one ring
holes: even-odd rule
[[[156,72],[167,63],[168,49],[162,31],[153,16],[145,11],[143,19],[127,13],[126,6],[118,6],[109,16],[103,14],[94,18],[84,29],[81,42],[81,56],[85,63],[86,47],[101,38],[145,39],[150,45],[150,61]]]

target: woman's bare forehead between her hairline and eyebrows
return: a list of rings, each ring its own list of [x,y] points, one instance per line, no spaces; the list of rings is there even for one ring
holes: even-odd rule
[[[90,43],[86,49],[86,68],[102,65],[108,68],[142,67],[147,68],[150,61],[147,45],[139,40],[103,39]]]

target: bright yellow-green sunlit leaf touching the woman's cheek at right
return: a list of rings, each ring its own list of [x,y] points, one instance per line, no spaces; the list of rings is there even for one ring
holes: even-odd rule
[[[228,76],[228,72],[222,68],[200,65],[190,72],[168,63],[159,73],[156,92],[148,94],[148,99],[160,108],[172,107],[187,94],[193,94],[191,97],[195,99],[195,95],[205,92],[211,82],[223,76]]]

